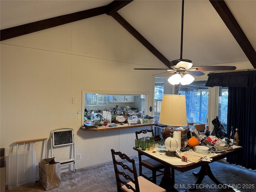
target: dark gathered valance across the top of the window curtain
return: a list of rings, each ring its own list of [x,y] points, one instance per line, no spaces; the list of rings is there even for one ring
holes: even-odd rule
[[[205,86],[256,88],[256,70],[209,73]]]

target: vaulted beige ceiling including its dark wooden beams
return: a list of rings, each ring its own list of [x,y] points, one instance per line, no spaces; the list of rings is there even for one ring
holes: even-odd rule
[[[181,0],[1,0],[0,38],[107,14],[163,65],[180,58]],[[256,68],[256,0],[185,0],[183,58],[193,66],[249,61]],[[146,66],[145,66],[146,67]]]

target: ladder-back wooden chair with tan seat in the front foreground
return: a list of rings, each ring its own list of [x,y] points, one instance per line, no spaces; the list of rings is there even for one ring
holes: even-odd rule
[[[135,160],[111,149],[118,192],[166,192],[166,190],[142,176],[137,176]],[[116,157],[121,160],[117,161]]]

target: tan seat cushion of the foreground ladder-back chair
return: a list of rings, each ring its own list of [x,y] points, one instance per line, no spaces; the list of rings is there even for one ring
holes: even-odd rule
[[[138,182],[139,182],[139,187],[140,187],[140,192],[166,192],[166,190],[149,180],[145,179],[142,176],[138,176]],[[135,185],[130,181],[128,182],[133,188],[135,188]],[[131,189],[128,189],[125,185],[121,187],[123,191],[126,192],[133,192]]]

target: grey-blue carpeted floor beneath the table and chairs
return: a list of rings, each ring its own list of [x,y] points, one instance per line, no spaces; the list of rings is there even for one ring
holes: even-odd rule
[[[136,160],[138,171],[138,157]],[[256,171],[248,170],[241,166],[235,166],[226,162],[213,162],[210,164],[214,176],[222,183],[233,186],[234,190],[220,189],[208,176],[204,178],[202,184],[196,186],[195,192],[252,192],[256,191]],[[147,169],[145,169],[146,171]],[[184,189],[187,192],[196,182],[196,176],[192,172],[198,172],[199,168],[188,172],[175,172],[175,184],[178,190]],[[147,171],[150,174],[150,171]],[[161,177],[157,178],[160,184]],[[7,190],[8,191],[8,190]],[[9,192],[43,192],[44,188],[39,182],[33,186],[21,187]],[[48,192],[116,192],[116,178],[114,174],[113,162],[77,169],[76,172],[64,172],[61,174],[61,185]]]

